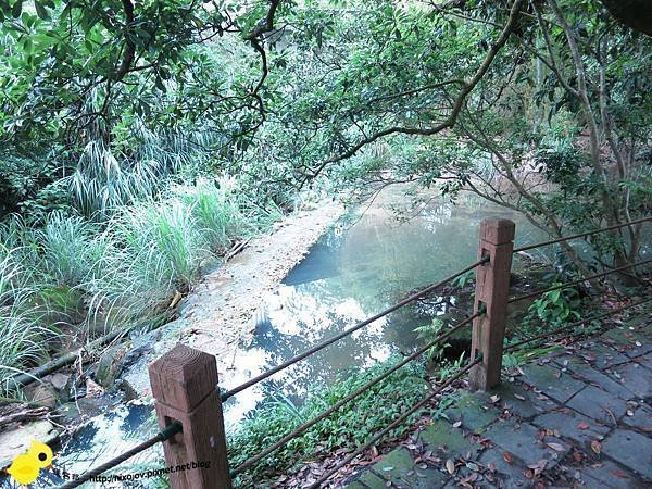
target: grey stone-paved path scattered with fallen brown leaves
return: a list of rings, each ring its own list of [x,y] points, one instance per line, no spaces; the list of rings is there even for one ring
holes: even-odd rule
[[[444,414],[347,486],[652,488],[652,317],[522,365]]]

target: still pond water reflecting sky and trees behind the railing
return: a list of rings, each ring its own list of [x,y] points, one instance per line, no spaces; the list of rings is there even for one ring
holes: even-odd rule
[[[392,305],[410,290],[432,284],[476,260],[480,221],[500,216],[516,222],[516,244],[542,238],[521,215],[472,198],[455,204],[430,200],[411,218],[401,188],[384,190],[371,204],[350,212],[311,248],[283,284],[261,305],[254,341],[238,353],[246,365],[237,375],[222,373],[225,388],[281,363],[342,329]],[[336,344],[250,388],[225,404],[227,429],[261,402],[284,397],[300,402],[309,389],[331,383],[352,367],[367,367],[418,344],[414,328],[430,321],[409,309],[378,319]],[[151,406],[121,405],[82,427],[58,451],[55,467],[82,474],[151,436]],[[146,473],[164,465],[161,450],[150,449],[114,473]],[[47,472],[47,471],[45,471]],[[43,474],[38,487],[61,479]],[[37,482],[37,484],[38,484]],[[3,489],[13,487],[4,480]],[[124,482],[85,487],[129,487]],[[130,487],[156,487],[154,479]]]

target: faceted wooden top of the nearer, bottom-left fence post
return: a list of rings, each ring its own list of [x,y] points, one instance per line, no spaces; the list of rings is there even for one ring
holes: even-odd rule
[[[148,367],[156,401],[190,412],[215,390],[215,356],[177,343]]]

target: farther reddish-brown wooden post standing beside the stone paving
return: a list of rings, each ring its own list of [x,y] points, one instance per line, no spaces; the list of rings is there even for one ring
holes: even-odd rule
[[[484,308],[486,313],[473,322],[472,358],[481,354],[482,361],[468,373],[472,390],[488,390],[500,384],[514,229],[509,220],[489,218],[480,224],[479,258],[488,256],[489,261],[476,268],[474,312]]]

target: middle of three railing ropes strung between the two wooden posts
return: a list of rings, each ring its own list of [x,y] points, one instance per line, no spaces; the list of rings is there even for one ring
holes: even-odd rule
[[[301,434],[303,434],[304,431],[306,431],[308,429],[310,429],[311,427],[313,427],[314,425],[316,425],[317,423],[319,423],[321,421],[325,419],[330,414],[333,414],[334,412],[336,412],[337,410],[339,410],[340,408],[342,408],[344,404],[348,404],[349,402],[351,402],[352,400],[356,399],[362,393],[364,393],[366,390],[368,390],[372,387],[374,387],[376,384],[378,384],[381,380],[384,380],[387,377],[389,377],[391,374],[393,374],[394,372],[397,372],[399,368],[403,367],[408,363],[412,362],[413,360],[415,360],[418,356],[421,356],[422,354],[424,354],[430,348],[432,348],[432,347],[441,343],[442,341],[444,341],[446,339],[448,339],[451,335],[453,335],[454,333],[459,331],[464,326],[466,326],[469,323],[472,323],[473,319],[475,319],[476,317],[479,317],[482,314],[484,314],[484,312],[477,312],[473,316],[467,317],[466,319],[464,319],[461,323],[456,324],[451,329],[449,329],[446,333],[439,335],[435,340],[432,340],[428,344],[419,348],[414,353],[412,353],[411,355],[406,356],[405,359],[403,359],[401,362],[399,362],[396,365],[393,365],[388,371],[384,372],[381,375],[375,377],[374,379],[369,380],[364,386],[362,386],[359,389],[356,389],[353,392],[351,392],[346,398],[339,400],[337,403],[335,403],[328,410],[322,412],[319,415],[315,416],[311,421],[309,421],[309,422],[304,423],[303,425],[299,426],[298,428],[296,428],[294,430],[292,430],[291,432],[289,432],[288,435],[286,435],[285,437],[283,437],[280,440],[276,441],[274,444],[269,446],[268,448],[266,448],[265,450],[263,450],[262,452],[260,452],[259,454],[250,457],[249,460],[247,460],[243,463],[241,463],[240,465],[238,465],[234,471],[231,471],[231,475],[235,476],[235,475],[241,473],[242,471],[247,469],[251,465],[256,464],[258,462],[260,462],[261,460],[263,460],[265,456],[267,456],[268,454],[275,452],[280,447],[283,447],[284,444],[286,444],[291,439],[300,436]]]

